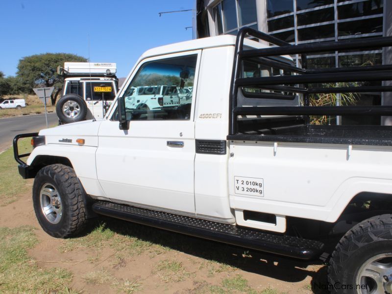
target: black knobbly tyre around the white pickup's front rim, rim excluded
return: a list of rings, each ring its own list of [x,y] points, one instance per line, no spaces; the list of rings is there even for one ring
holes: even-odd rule
[[[62,203],[62,215],[58,223],[51,223],[41,209],[41,189],[46,183],[58,191]],[[86,224],[84,189],[72,168],[62,164],[52,164],[42,168],[34,179],[33,206],[42,229],[50,236],[68,238],[77,235]]]

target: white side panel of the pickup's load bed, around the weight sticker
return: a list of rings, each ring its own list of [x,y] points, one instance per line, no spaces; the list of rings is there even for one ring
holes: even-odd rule
[[[230,143],[232,208],[333,222],[358,193],[392,193],[391,147],[274,145]],[[235,194],[235,176],[264,179],[264,196]]]

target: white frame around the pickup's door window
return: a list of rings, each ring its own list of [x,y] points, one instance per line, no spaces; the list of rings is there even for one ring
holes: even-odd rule
[[[172,121],[187,121],[187,122],[194,122],[195,121],[195,105],[196,105],[196,97],[197,97],[197,83],[198,83],[198,77],[199,77],[199,69],[200,69],[200,61],[201,61],[201,49],[197,50],[190,50],[190,51],[185,51],[185,52],[179,52],[179,53],[171,53],[171,54],[165,54],[165,55],[158,55],[158,56],[153,56],[153,57],[147,57],[144,59],[141,59],[138,61],[137,66],[133,69],[133,71],[128,75],[128,78],[126,81],[123,83],[123,86],[121,87],[121,91],[117,94],[117,97],[113,101],[113,107],[111,108],[110,111],[108,111],[107,115],[105,116],[106,119],[110,119],[111,121],[118,121],[115,116],[117,113],[117,103],[118,103],[118,98],[123,97],[125,94],[126,90],[128,89],[129,85],[131,85],[135,78],[140,73],[140,70],[142,67],[150,62],[162,60],[162,59],[171,59],[171,58],[176,58],[176,57],[182,57],[182,56],[190,56],[190,55],[196,55],[196,68],[195,68],[195,79],[194,79],[194,85],[193,85],[193,96],[192,96],[192,105],[191,105],[191,114],[189,116],[189,119],[184,119],[184,120],[134,120],[131,122],[156,122],[156,121],[161,121],[161,122],[172,122]]]

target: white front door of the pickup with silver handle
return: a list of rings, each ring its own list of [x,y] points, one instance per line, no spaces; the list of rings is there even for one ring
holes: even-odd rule
[[[129,130],[119,129],[115,113],[102,122],[98,133],[97,174],[107,197],[157,210],[195,213],[195,97],[182,105],[177,91],[171,91],[149,95],[147,103],[135,89],[195,86],[200,53],[148,58],[123,87],[120,95],[133,101],[126,104]]]

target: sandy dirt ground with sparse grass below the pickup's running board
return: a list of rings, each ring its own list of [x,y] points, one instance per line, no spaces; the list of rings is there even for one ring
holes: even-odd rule
[[[96,242],[94,230],[102,221],[106,228],[99,234],[107,236]],[[41,268],[70,270],[73,281],[67,286],[81,293],[323,293],[312,291],[311,285],[326,280],[326,268],[317,261],[247,251],[118,220],[93,221],[78,238],[52,238],[36,221],[31,193],[0,207],[0,227],[23,225],[37,228],[40,243],[29,250],[31,259]]]

